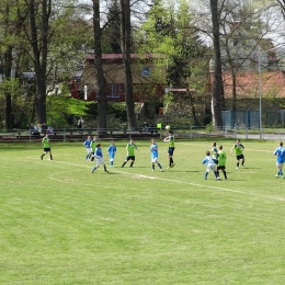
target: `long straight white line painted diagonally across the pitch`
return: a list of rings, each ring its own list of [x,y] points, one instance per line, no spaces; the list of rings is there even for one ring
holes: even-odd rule
[[[31,159],[31,158],[34,158],[34,157],[26,157],[26,158]],[[38,158],[36,158],[36,159],[38,160]],[[56,160],[55,162],[56,163],[59,162],[59,163],[64,163],[64,164],[68,164],[68,166],[71,164],[71,166],[76,166],[76,167],[88,168],[88,169],[90,169],[90,171],[91,171],[91,168],[92,168],[91,164],[82,166],[82,164],[78,164],[78,163],[73,163],[73,162],[69,162],[69,161],[62,161],[62,160]],[[65,171],[65,172],[70,172],[70,171],[72,171],[72,170]],[[137,178],[142,178],[142,179],[160,180],[160,181],[173,182],[173,183],[179,183],[179,184],[184,184],[184,185],[191,185],[191,186],[195,186],[195,187],[210,189],[210,190],[220,191],[220,192],[238,193],[238,194],[243,194],[243,195],[249,195],[249,196],[255,196],[255,197],[270,198],[270,200],[285,202],[285,198],[283,198],[283,197],[276,197],[276,196],[270,196],[270,195],[260,195],[260,194],[255,194],[255,193],[248,193],[248,192],[240,191],[240,190],[233,190],[233,189],[227,189],[227,187],[220,187],[220,186],[213,186],[213,185],[205,185],[205,184],[192,183],[192,182],[180,181],[180,180],[174,180],[174,179],[158,178],[158,176],[152,176],[152,175],[119,171],[119,170],[115,170],[115,169],[112,169],[112,170],[109,169],[109,171],[111,173],[115,172],[115,173],[122,173],[122,174],[133,175],[133,176],[137,176]],[[161,174],[163,175],[163,173],[166,173],[166,172],[162,172]],[[57,172],[56,174],[60,174],[60,173]],[[92,175],[92,174],[90,173],[90,175]],[[94,173],[94,175],[95,175],[95,173]],[[62,180],[60,180],[60,182],[62,182]],[[213,182],[220,183],[219,181],[213,181]],[[93,183],[91,185],[93,185]]]

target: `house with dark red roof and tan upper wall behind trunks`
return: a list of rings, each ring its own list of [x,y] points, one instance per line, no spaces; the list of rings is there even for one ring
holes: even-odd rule
[[[164,94],[164,68],[157,70],[153,60],[158,56],[146,54],[130,55],[133,87],[135,102],[144,102],[149,94],[161,96]],[[111,102],[125,102],[125,72],[122,54],[103,54],[103,70],[107,82],[107,100]],[[162,73],[162,75],[161,75]],[[94,53],[88,53],[83,71],[71,79],[70,92],[75,99],[96,101],[96,78],[94,68]]]

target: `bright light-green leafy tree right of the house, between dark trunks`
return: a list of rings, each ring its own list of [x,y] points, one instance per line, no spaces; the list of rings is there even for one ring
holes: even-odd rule
[[[174,9],[157,0],[147,21],[137,31],[136,39],[140,54],[159,55],[153,59],[156,70],[151,73],[156,73],[152,79],[176,89],[192,90],[195,87],[195,92],[168,96],[171,101],[166,100],[164,114],[171,112],[187,117],[191,114],[192,123],[198,125],[196,110],[205,102],[202,96],[205,96],[207,87],[207,48],[198,37],[189,3],[180,1]]]

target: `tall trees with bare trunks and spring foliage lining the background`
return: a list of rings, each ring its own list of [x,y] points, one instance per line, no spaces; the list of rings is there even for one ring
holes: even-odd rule
[[[95,55],[98,128],[107,127],[104,53],[123,55],[128,128],[137,127],[132,53],[163,55],[155,60],[152,80],[166,87],[194,88],[187,102],[194,119],[195,106],[209,94],[213,123],[221,126],[223,71],[232,75],[235,110],[236,75],[246,64],[247,68],[256,65],[258,46],[270,49],[272,37],[285,38],[284,11],[284,0],[180,0],[169,4],[161,0],[2,0],[0,119],[8,129],[23,117],[47,122],[47,95],[57,94],[59,84],[68,93],[70,77],[83,68],[83,46]],[[209,90],[210,59],[215,65]]]

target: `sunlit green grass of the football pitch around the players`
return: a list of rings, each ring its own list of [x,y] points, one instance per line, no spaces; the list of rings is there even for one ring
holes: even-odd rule
[[[212,141],[176,141],[175,167],[151,172],[149,141],[134,168],[111,174],[84,161],[81,142],[0,145],[0,284],[285,284],[285,180],[276,141],[242,141],[246,169],[229,150],[228,181],[204,180]],[[105,152],[109,141],[103,141]],[[107,162],[107,157],[105,156]]]

